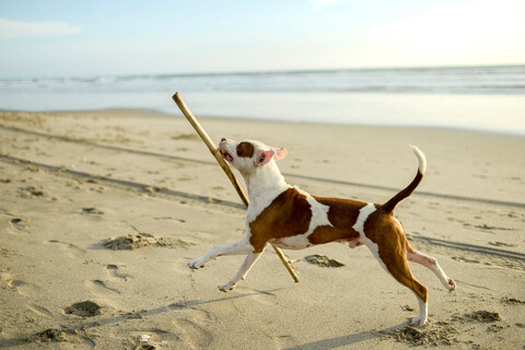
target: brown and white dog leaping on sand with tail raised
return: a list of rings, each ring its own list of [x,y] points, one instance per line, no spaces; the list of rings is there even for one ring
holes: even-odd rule
[[[188,264],[201,268],[210,259],[223,255],[244,255],[246,259],[221,291],[229,291],[246,277],[266,247],[303,249],[329,242],[348,242],[351,248],[366,245],[380,265],[399,283],[410,289],[419,302],[419,315],[412,324],[424,325],[428,317],[427,288],[411,273],[408,260],[434,272],[448,291],[456,288],[436,259],[417,252],[407,241],[402,224],[393,215],[397,203],[411,195],[421,182],[427,160],[411,147],[419,160],[415,179],[384,205],[350,199],[312,196],[284,182],[276,161],[287,155],[285,149],[268,147],[259,141],[235,142],[222,139],[222,156],[243,175],[248,188],[246,236],[235,243],[215,247]]]

